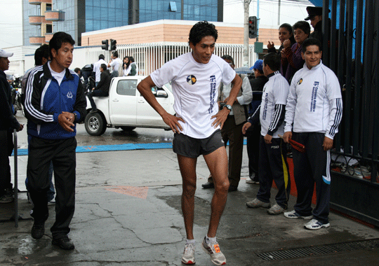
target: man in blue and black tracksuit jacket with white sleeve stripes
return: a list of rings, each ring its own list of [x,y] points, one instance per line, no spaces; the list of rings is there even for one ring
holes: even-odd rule
[[[53,162],[55,178],[55,223],[52,243],[73,249],[69,223],[74,216],[76,123],[86,116],[86,97],[77,73],[69,70],[75,41],[57,32],[49,42],[51,61],[29,74],[25,93],[25,116],[29,135],[27,176],[34,204],[32,237],[44,236],[48,218],[48,168]]]

